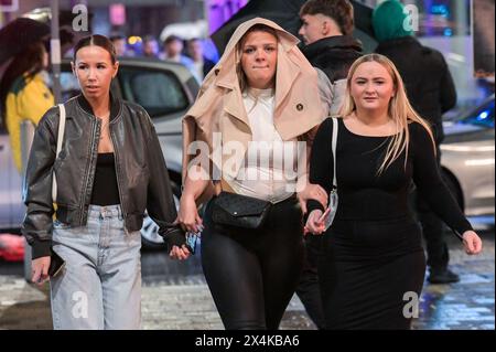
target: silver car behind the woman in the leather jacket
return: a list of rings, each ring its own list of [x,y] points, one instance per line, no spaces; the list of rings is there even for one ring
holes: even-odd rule
[[[198,84],[190,71],[181,64],[145,60],[120,58],[119,73],[111,90],[125,100],[133,102],[149,113],[155,126],[179,204],[181,196],[182,124],[181,118],[194,102]],[[79,94],[68,60],[62,64],[61,83],[63,100]],[[19,228],[24,216],[21,177],[15,169],[10,150],[9,136],[0,131],[0,228]],[[141,230],[145,248],[162,247],[158,226],[144,218]]]

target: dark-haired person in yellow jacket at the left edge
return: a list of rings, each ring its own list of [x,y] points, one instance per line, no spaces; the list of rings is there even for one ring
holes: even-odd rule
[[[21,124],[37,125],[43,114],[54,104],[47,85],[48,54],[40,41],[19,53],[7,67],[0,84],[3,125],[9,132],[13,161],[22,171]]]

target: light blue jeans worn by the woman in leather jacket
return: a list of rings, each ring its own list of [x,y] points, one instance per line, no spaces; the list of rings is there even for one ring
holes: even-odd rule
[[[86,226],[55,222],[53,249],[66,266],[51,279],[54,329],[140,329],[140,248],[120,205],[90,205]]]

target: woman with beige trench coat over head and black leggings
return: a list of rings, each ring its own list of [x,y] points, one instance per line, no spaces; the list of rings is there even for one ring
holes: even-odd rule
[[[311,132],[326,111],[317,73],[296,43],[269,20],[240,24],[183,121],[185,186],[179,220],[190,232],[204,227],[203,270],[226,329],[277,329],[302,269],[303,223],[295,191],[306,180],[303,172],[284,173],[283,158],[272,152],[299,140],[310,147]],[[193,159],[192,142],[206,146],[203,156]],[[263,143],[270,160],[249,158]],[[302,154],[287,158],[291,168],[305,166]],[[250,172],[259,177],[250,179]],[[268,201],[266,221],[258,228],[219,223],[213,215],[220,195],[207,203],[201,218],[196,203],[213,189]]]

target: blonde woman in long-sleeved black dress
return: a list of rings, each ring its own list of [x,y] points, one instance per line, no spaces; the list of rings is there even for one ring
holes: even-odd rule
[[[379,54],[355,61],[342,116],[335,170],[332,119],[315,136],[310,164],[310,182],[327,192],[336,172],[339,198],[319,260],[326,329],[409,329],[425,271],[408,207],[411,182],[467,254],[479,253],[482,242],[443,183],[430,127],[410,106],[391,61]],[[322,234],[324,207],[312,200],[308,207],[306,227]]]

